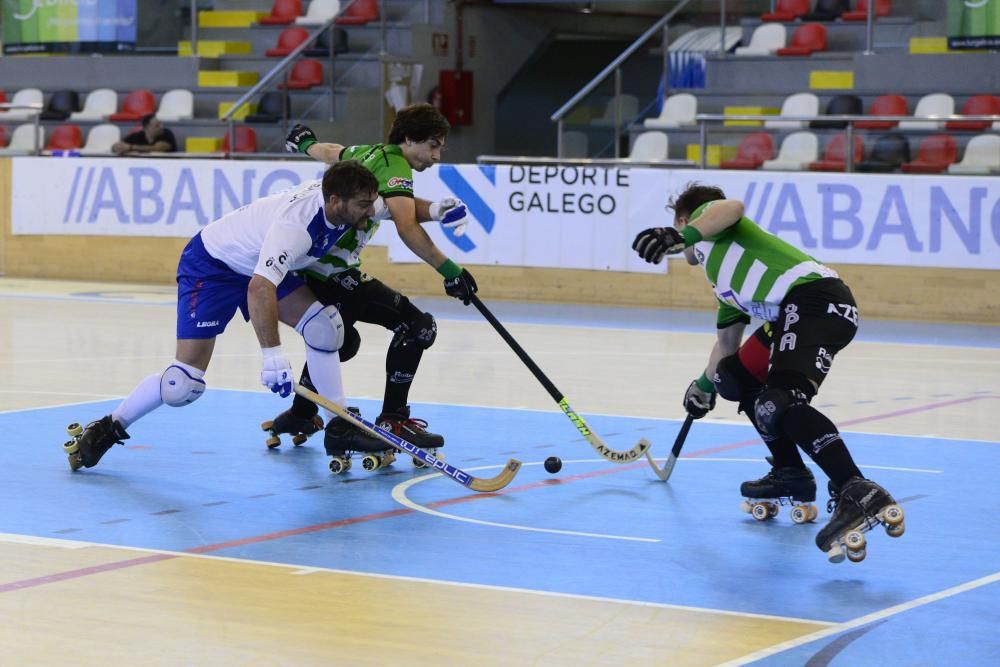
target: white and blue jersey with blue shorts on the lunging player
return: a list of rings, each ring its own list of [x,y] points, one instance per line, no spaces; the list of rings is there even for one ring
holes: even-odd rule
[[[177,265],[177,338],[214,338],[237,308],[249,320],[247,286],[254,274],[274,283],[281,299],[303,285],[291,272],[319,261],[350,229],[327,222],[318,180],[212,222]]]

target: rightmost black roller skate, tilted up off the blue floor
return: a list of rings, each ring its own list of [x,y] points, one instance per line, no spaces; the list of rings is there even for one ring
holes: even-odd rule
[[[832,492],[834,487],[830,488]],[[852,477],[831,502],[830,523],[816,535],[816,546],[826,552],[831,563],[839,563],[845,556],[852,563],[863,561],[868,553],[865,533],[879,525],[885,526],[889,537],[899,537],[906,530],[903,508],[870,480]]]

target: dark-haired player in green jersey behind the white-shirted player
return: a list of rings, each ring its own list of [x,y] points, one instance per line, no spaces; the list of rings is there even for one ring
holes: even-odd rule
[[[477,290],[475,279],[467,269],[448,259],[420,224],[440,221],[461,235],[467,222],[465,205],[454,198],[432,203],[413,194],[413,172],[440,161],[449,130],[448,121],[437,109],[419,104],[398,112],[384,144],[345,147],[320,143],[312,130],[302,125],[296,125],[286,140],[289,151],[305,153],[327,164],[356,160],[378,180],[382,201],[376,204],[376,215],[368,221],[368,227],[345,235],[304,275],[320,302],[335,305],[341,312],[347,341],[341,350],[342,361],[354,356],[360,345],[356,322],[378,324],[395,333],[386,353],[382,412],[375,421],[423,449],[442,446],[444,438],[427,431],[426,421],[410,416],[407,397],[423,351],[437,336],[437,324],[430,313],[421,311],[406,296],[361,271],[360,255],[381,221],[391,218],[407,247],[444,277],[445,292],[469,304],[469,297]],[[303,383],[308,381],[307,371],[303,369]],[[274,431],[313,433],[319,428],[316,410],[311,402],[296,396],[292,407],[275,418]],[[372,440],[343,420],[334,419],[326,428],[328,453],[384,448]]]

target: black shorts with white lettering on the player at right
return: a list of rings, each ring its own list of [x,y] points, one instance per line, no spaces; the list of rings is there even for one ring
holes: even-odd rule
[[[809,378],[818,389],[834,356],[857,332],[858,306],[842,280],[822,278],[799,285],[785,296],[772,324],[768,385],[772,379],[797,375]]]

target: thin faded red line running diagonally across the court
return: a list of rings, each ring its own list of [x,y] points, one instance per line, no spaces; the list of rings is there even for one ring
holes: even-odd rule
[[[940,403],[929,403],[923,406],[917,406],[914,408],[906,408],[903,410],[896,410],[893,412],[886,412],[878,415],[871,415],[868,417],[858,417],[857,419],[852,419],[849,421],[841,422],[844,425],[850,424],[862,424],[870,421],[878,421],[881,419],[890,419],[892,417],[900,417],[903,415],[915,414],[918,412],[926,412],[928,410],[934,410],[936,408],[947,407],[949,405],[957,405],[959,403],[966,403],[968,401],[976,401],[990,398],[1000,398],[1000,396],[986,395],[986,396],[970,396],[968,398],[960,398],[953,401],[942,401]],[[699,449],[689,454],[685,454],[682,458],[697,458],[700,456],[707,456],[709,454],[715,454],[717,452],[729,451],[732,449],[739,449],[741,447],[747,447],[749,445],[760,444],[759,439],[754,440],[741,440],[739,442],[730,443],[728,445],[720,445],[718,447],[709,447],[707,449]],[[640,463],[630,463],[627,465],[619,465],[614,468],[605,468],[602,470],[592,470],[590,472],[580,473],[577,475],[569,475],[566,477],[560,477],[559,479],[546,479],[540,480],[538,482],[531,482],[529,484],[522,484],[520,486],[515,486],[507,489],[501,489],[500,491],[494,491],[492,493],[477,493],[470,494],[467,496],[458,496],[456,498],[449,498],[447,500],[438,500],[432,503],[428,503],[428,507],[444,507],[446,505],[457,505],[459,503],[469,502],[471,500],[481,500],[484,498],[493,498],[496,496],[509,495],[512,493],[520,493],[522,491],[531,491],[545,486],[556,486],[562,484],[568,484],[570,482],[576,482],[582,479],[592,479],[594,477],[603,477],[605,475],[614,475],[621,472],[627,472],[629,470],[636,470],[638,468],[645,468],[647,464],[645,462]],[[377,512],[375,514],[366,514],[364,516],[351,517],[348,519],[339,519],[337,521],[328,521],[325,523],[317,523],[312,526],[303,526],[301,528],[291,528],[289,530],[280,530],[273,533],[265,533],[263,535],[255,535],[251,537],[244,537],[238,540],[229,540],[228,542],[218,542],[216,544],[206,544],[200,547],[192,547],[190,549],[185,549],[181,553],[191,553],[191,554],[205,554],[212,553],[214,551],[221,551],[222,549],[229,549],[232,547],[244,546],[247,544],[259,544],[261,542],[270,542],[272,540],[278,540],[283,537],[291,537],[293,535],[304,535],[307,533],[316,533],[324,530],[332,530],[334,528],[342,528],[344,526],[353,526],[359,523],[366,523],[368,521],[377,521],[379,519],[388,519],[397,516],[404,516],[406,514],[413,514],[414,510],[411,509],[397,509],[390,510],[386,512]],[[114,548],[114,547],[112,547]],[[22,579],[21,581],[12,581],[7,584],[0,584],[0,593],[7,593],[9,591],[22,590],[25,588],[32,588],[35,586],[42,586],[45,584],[52,584],[59,581],[66,581],[69,579],[77,579],[80,577],[86,577],[92,574],[100,574],[102,572],[113,572],[115,570],[122,570],[129,567],[135,567],[138,565],[146,565],[147,563],[156,563],[159,561],[170,560],[172,558],[180,557],[181,553],[178,554],[152,554],[149,556],[142,556],[139,558],[133,558],[130,560],[117,561],[114,563],[106,563],[104,565],[94,565],[92,567],[80,568],[78,570],[68,570],[66,572],[57,572],[55,574],[45,575],[43,577],[35,577],[33,579]]]

